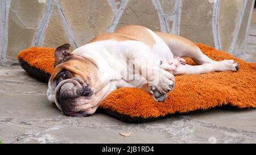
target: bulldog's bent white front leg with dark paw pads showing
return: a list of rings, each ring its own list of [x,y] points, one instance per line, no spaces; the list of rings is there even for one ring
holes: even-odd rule
[[[163,102],[167,93],[174,89],[175,78],[170,72],[160,68],[160,65],[155,65],[152,62],[154,60],[148,58],[148,53],[148,51],[133,52],[129,60],[134,66],[133,72],[139,73],[147,81],[141,85],[141,88],[151,93],[156,101]]]

